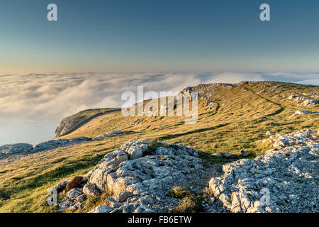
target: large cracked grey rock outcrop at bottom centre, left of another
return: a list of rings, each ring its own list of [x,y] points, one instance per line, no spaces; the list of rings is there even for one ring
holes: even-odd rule
[[[174,143],[129,141],[108,153],[91,170],[83,188],[72,189],[60,210],[80,207],[77,196],[99,196],[110,192],[105,206],[91,212],[171,212],[180,199],[169,195],[172,187],[189,187],[202,192],[213,176],[220,175],[220,165],[203,165],[197,150]],[[60,183],[64,186],[65,183]],[[111,209],[109,208],[111,207]]]

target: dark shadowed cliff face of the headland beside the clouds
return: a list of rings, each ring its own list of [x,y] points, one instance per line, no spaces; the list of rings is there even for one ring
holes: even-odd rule
[[[84,123],[91,121],[93,118],[96,118],[103,114],[111,113],[113,111],[120,111],[120,110],[110,109],[110,108],[89,109],[89,110],[81,111],[72,116],[68,116],[67,118],[64,118],[59,123],[59,126],[57,126],[57,129],[55,130],[55,136],[60,137],[60,136],[72,133],[72,131],[77,130],[77,128],[81,127]]]

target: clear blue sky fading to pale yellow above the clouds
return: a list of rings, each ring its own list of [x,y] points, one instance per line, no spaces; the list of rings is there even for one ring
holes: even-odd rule
[[[0,74],[319,70],[318,0],[1,0],[0,33]]]

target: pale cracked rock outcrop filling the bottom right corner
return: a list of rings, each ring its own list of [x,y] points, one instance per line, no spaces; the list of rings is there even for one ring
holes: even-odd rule
[[[232,212],[318,212],[318,131],[272,138],[274,149],[223,166],[209,189]]]

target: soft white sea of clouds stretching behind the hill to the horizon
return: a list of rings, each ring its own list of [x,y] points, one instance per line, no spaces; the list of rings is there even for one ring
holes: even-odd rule
[[[179,92],[203,83],[275,80],[319,84],[315,73],[150,72],[0,74],[0,145],[40,143],[54,137],[57,124],[84,109],[121,107],[121,94]],[[140,100],[137,100],[140,101]]]

